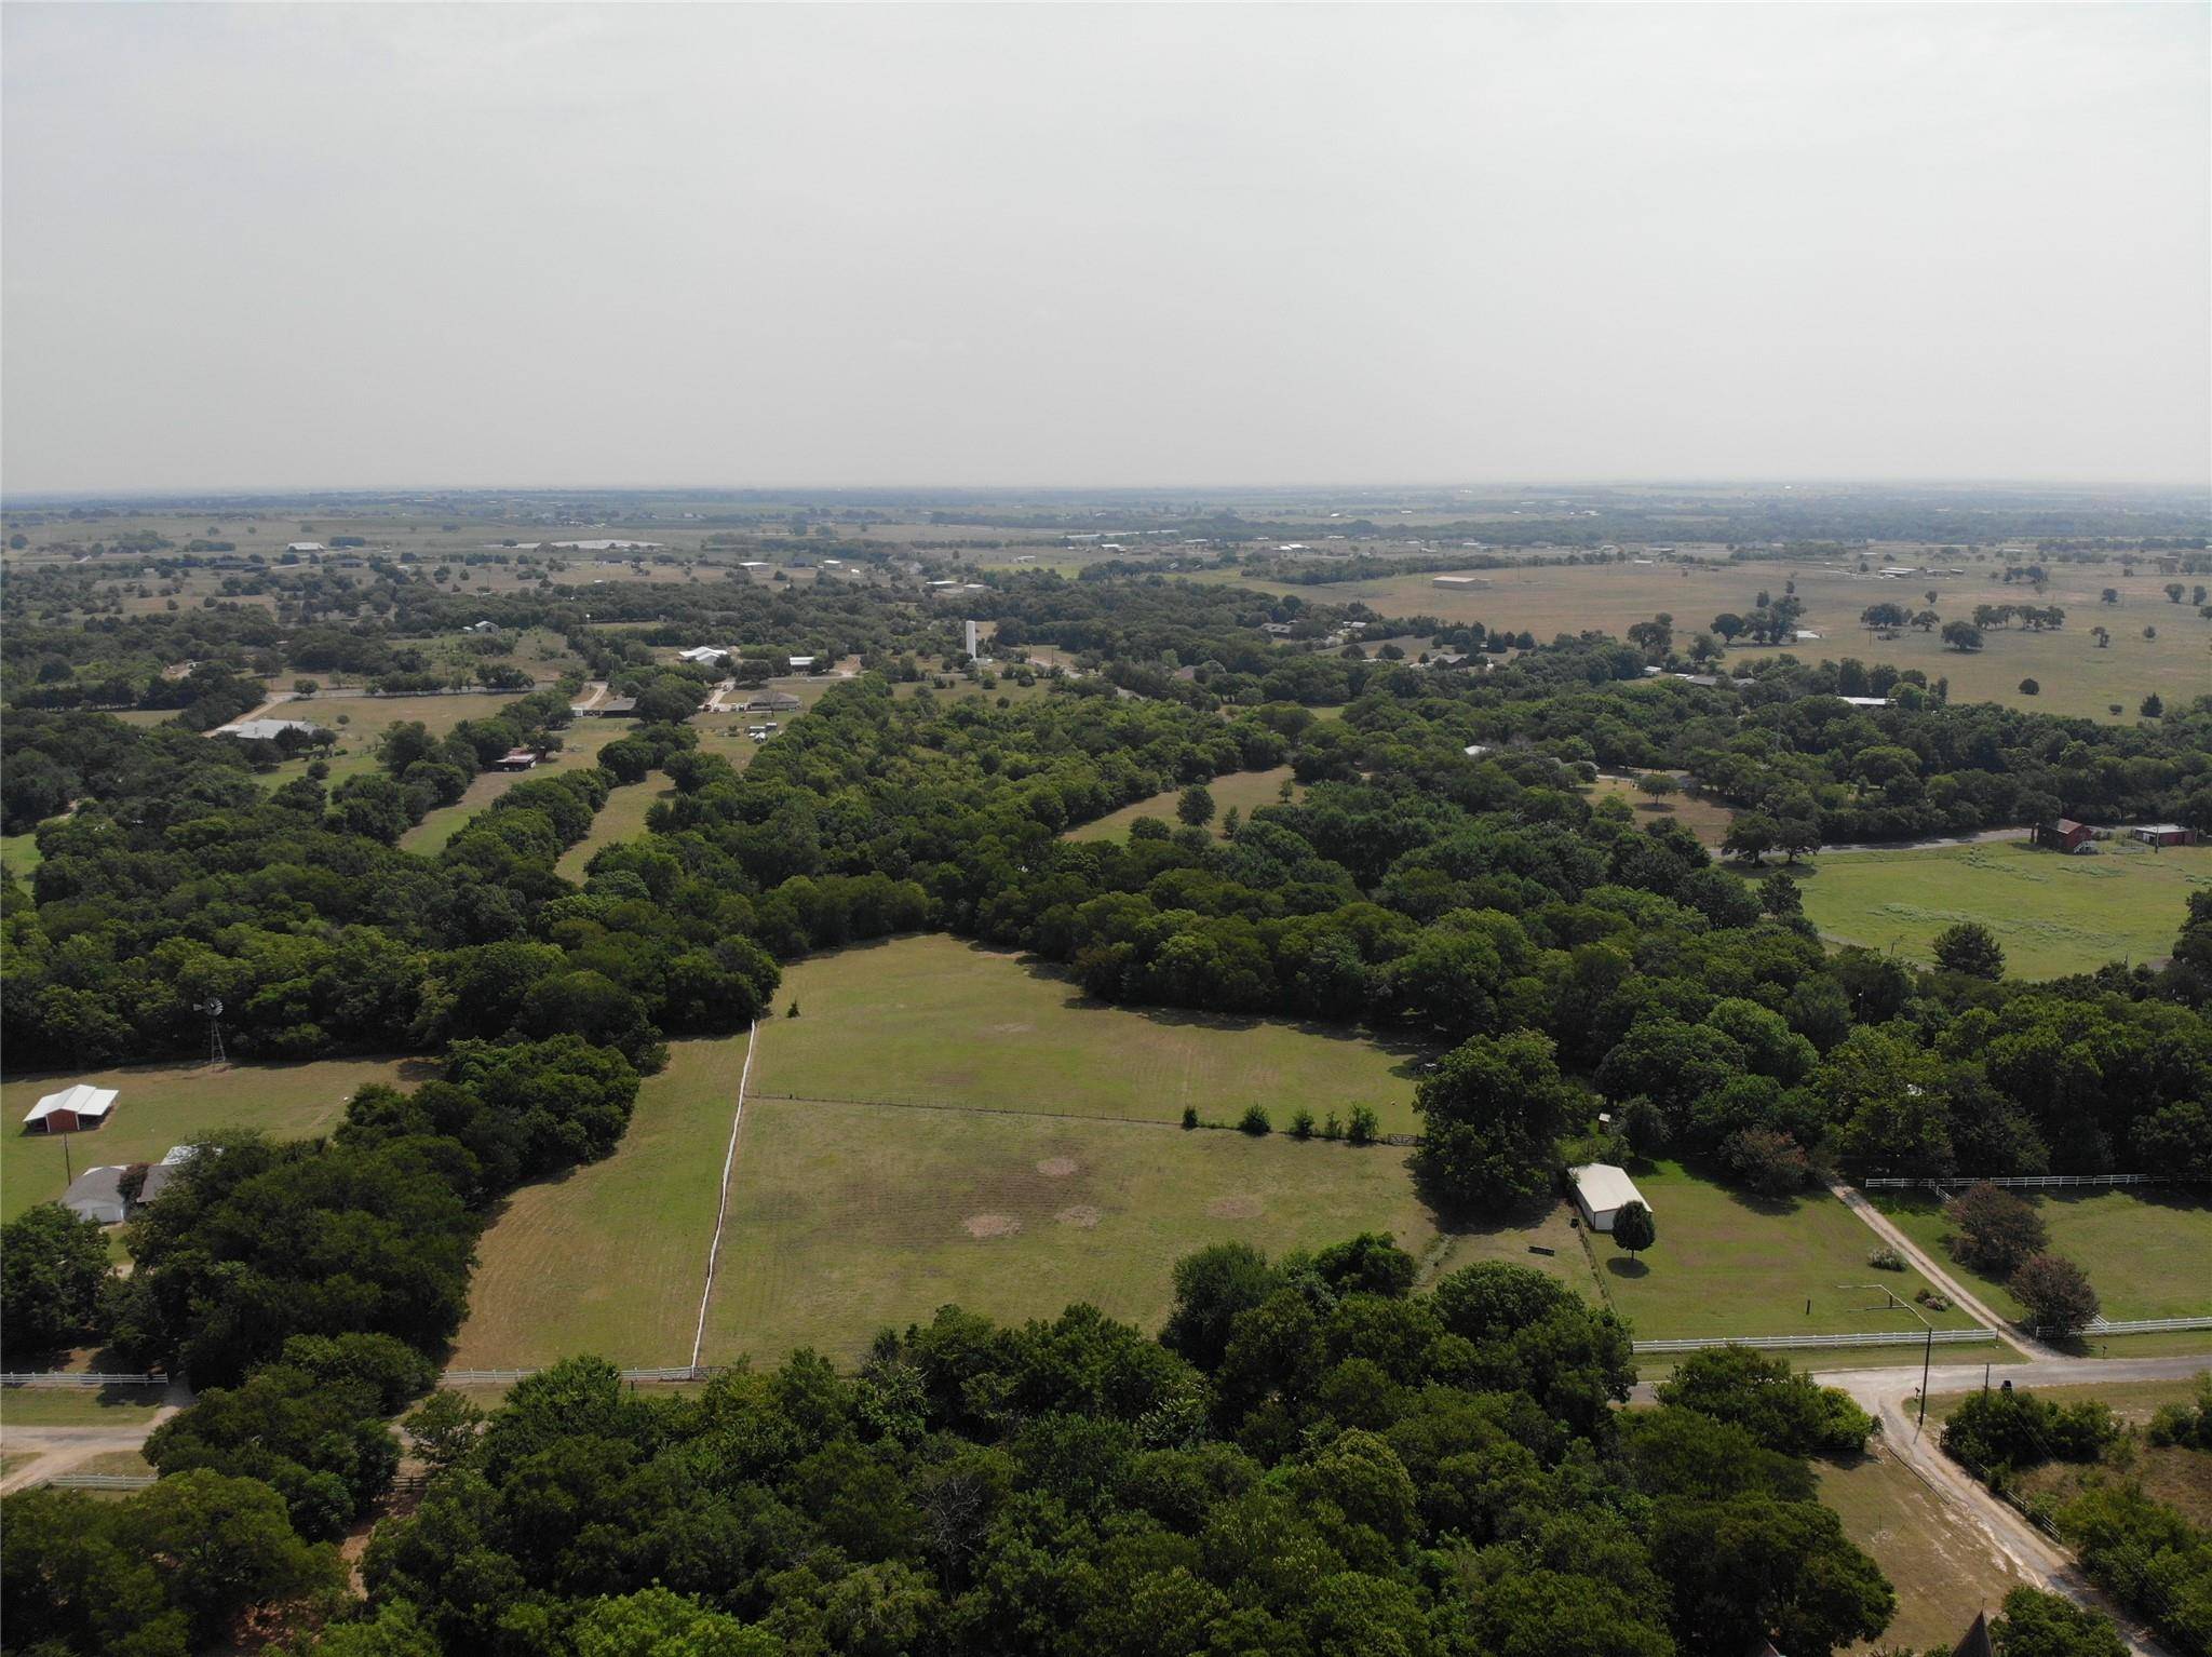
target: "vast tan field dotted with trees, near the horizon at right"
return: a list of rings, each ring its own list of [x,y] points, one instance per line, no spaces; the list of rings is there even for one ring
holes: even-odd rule
[[[1964,575],[1927,575],[1878,580],[1858,575],[1856,562],[1823,566],[1801,562],[1730,564],[1725,557],[1681,564],[1544,564],[1524,569],[1469,571],[1489,586],[1444,588],[1433,573],[1387,575],[1369,582],[1329,586],[1285,586],[1279,582],[1239,582],[1276,595],[1298,595],[1310,602],[1349,604],[1360,600],[1385,615],[1436,615],[1444,622],[1482,622],[1491,628],[1533,633],[1548,644],[1559,633],[1599,628],[1621,637],[1630,622],[1652,615],[1674,617],[1674,635],[1688,642],[1712,624],[1721,611],[1747,613],[1761,591],[1783,595],[1785,582],[1796,582],[1805,602],[1801,626],[1820,639],[1794,644],[1790,653],[1805,661],[1887,661],[1898,668],[1920,668],[1929,679],[1949,679],[1953,701],[2002,701],[2015,708],[2079,715],[2084,719],[2135,719],[2146,692],[2157,690],[2168,701],[2203,695],[2212,675],[2212,622],[2190,604],[2168,604],[2161,591],[2168,580],[2143,562],[2135,575],[2121,575],[2121,564],[2051,564],[2051,584],[2037,595],[2026,584],[2004,582],[2004,562],[1944,560],[1900,549],[1874,549],[1869,562],[1958,564]],[[1201,580],[1223,580],[1206,575]],[[2194,577],[2188,577],[2194,580]],[[2119,604],[2101,604],[2101,591],[2119,593]],[[1924,593],[1936,588],[1936,602]],[[1971,655],[1951,650],[1936,631],[1907,628],[1896,639],[1880,639],[1858,626],[1869,604],[1909,604],[1933,608],[1944,619],[1962,619],[1978,604],[2057,604],[2066,626],[2055,633],[1989,628],[1986,646]],[[2093,626],[2112,633],[2108,648],[2097,648]],[[2143,639],[2146,626],[2159,637]],[[1732,666],[1765,653],[1765,646],[1739,646],[1728,653]],[[2042,684],[2039,697],[2020,695],[2022,679]],[[2121,712],[2112,715],[2110,704]]]

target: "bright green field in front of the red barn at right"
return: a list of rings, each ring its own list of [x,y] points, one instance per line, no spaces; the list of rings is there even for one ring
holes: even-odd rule
[[[1980,920],[2013,978],[2059,978],[2108,960],[2166,960],[2192,892],[2212,889],[2212,845],[2099,841],[2097,856],[2024,841],[1920,852],[1843,852],[1798,867],[1805,914],[1832,942],[1933,965],[1936,934]]]

